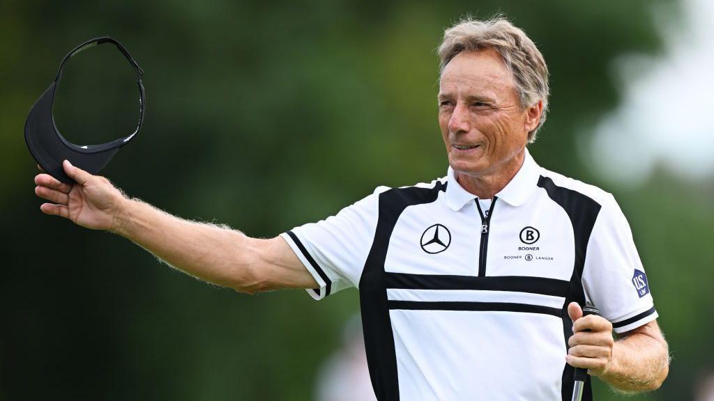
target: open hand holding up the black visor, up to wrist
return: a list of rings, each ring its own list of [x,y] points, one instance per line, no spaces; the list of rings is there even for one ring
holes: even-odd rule
[[[35,176],[35,193],[51,203],[43,203],[40,210],[59,215],[82,227],[94,230],[113,230],[116,215],[126,198],[109,180],[92,176],[69,161],[62,163],[64,172],[76,183],[58,181],[49,174]]]

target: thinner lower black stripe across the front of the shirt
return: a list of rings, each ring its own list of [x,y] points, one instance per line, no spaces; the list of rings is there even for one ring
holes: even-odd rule
[[[523,313],[542,313],[545,315],[553,315],[560,318],[563,310],[560,308],[550,308],[542,305],[529,305],[526,303],[507,303],[507,302],[461,302],[461,301],[436,301],[436,302],[421,302],[421,301],[387,301],[388,308],[391,310],[476,310],[476,311],[497,311],[497,312],[523,312]]]

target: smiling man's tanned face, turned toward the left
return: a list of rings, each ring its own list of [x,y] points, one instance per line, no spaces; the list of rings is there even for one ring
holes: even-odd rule
[[[512,162],[540,116],[540,103],[521,108],[511,72],[491,49],[451,59],[441,74],[438,102],[449,164],[467,176],[485,176]]]

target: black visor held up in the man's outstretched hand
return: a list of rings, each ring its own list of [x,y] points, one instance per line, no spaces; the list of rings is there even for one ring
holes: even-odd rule
[[[64,64],[66,64],[72,56],[92,46],[105,43],[114,44],[114,46],[124,54],[124,57],[129,60],[131,66],[134,67],[134,71],[136,71],[136,83],[139,86],[139,123],[136,125],[134,133],[124,138],[102,143],[101,145],[77,146],[67,141],[57,130],[57,126],[54,123],[54,116],[52,115],[54,93],[59,84],[59,79],[62,76],[62,68],[64,68]],[[74,180],[69,178],[62,168],[62,161],[65,159],[69,160],[74,166],[89,173],[99,173],[99,171],[109,163],[116,152],[119,151],[119,148],[129,143],[129,141],[139,133],[139,130],[141,130],[141,123],[144,121],[144,106],[146,104],[144,83],[141,82],[142,75],[144,75],[144,71],[139,67],[139,64],[136,64],[136,61],[131,58],[129,51],[126,51],[124,46],[121,46],[118,41],[107,36],[86,41],[64,56],[62,63],[59,65],[59,71],[57,71],[57,77],[54,79],[54,82],[42,93],[42,96],[37,99],[25,120],[25,143],[27,143],[27,148],[29,148],[32,157],[35,158],[40,167],[46,171],[46,173],[49,173],[49,175],[64,183],[74,183]]]

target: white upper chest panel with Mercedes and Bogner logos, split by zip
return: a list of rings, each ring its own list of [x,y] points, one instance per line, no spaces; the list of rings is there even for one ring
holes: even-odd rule
[[[472,202],[453,211],[438,199],[403,211],[394,227],[385,271],[428,275],[478,275],[482,248],[487,276],[570,280],[575,258],[572,223],[545,193],[518,207],[496,200],[481,246],[482,219]]]

